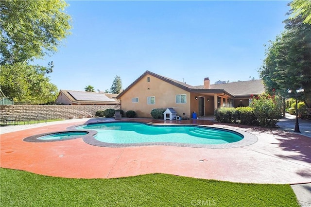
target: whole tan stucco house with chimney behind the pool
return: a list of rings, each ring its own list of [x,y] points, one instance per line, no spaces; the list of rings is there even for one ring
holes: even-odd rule
[[[198,117],[213,115],[219,107],[247,106],[251,95],[264,92],[261,80],[210,85],[204,78],[202,86],[190,86],[145,71],[125,88],[117,99],[123,111],[134,110],[138,117],[151,117],[154,108],[173,108],[179,116]]]

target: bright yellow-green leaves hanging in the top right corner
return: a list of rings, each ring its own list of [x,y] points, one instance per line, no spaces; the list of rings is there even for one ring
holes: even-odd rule
[[[311,0],[293,0],[290,5],[293,10],[290,19],[301,16],[303,23],[311,24]]]

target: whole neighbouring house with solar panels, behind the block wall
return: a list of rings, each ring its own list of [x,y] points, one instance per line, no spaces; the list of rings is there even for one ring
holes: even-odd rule
[[[118,94],[60,90],[55,101],[64,105],[120,105]]]

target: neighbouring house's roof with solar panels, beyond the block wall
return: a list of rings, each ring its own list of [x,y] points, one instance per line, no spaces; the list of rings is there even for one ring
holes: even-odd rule
[[[69,101],[75,104],[119,104],[118,94],[96,93],[88,91],[60,90]]]

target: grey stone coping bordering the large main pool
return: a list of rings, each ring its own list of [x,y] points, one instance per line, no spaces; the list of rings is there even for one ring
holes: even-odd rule
[[[97,123],[88,123],[88,124],[78,124],[74,126],[70,126],[67,128],[67,130],[75,131],[77,130],[76,127],[84,126],[84,125],[95,125],[95,124],[101,124],[101,123],[117,123],[120,121],[109,121],[109,122],[97,122]],[[230,132],[236,132],[243,135],[244,138],[242,138],[240,141],[232,142],[232,143],[224,143],[224,144],[192,144],[192,143],[179,143],[179,142],[139,142],[139,143],[108,143],[108,142],[102,142],[97,139],[95,139],[93,136],[82,136],[84,142],[87,144],[98,146],[98,147],[140,147],[140,146],[175,146],[175,147],[192,147],[192,148],[210,148],[210,149],[227,149],[227,148],[236,148],[236,147],[244,147],[251,144],[254,144],[258,141],[258,138],[249,133],[245,132],[239,129],[227,129],[222,126],[206,126],[206,125],[198,125],[198,124],[158,124],[158,123],[146,123],[146,122],[140,122],[140,121],[122,121],[122,122],[132,122],[132,123],[142,123],[147,125],[162,125],[162,126],[172,126],[172,125],[178,125],[178,126],[196,126],[196,127],[202,127],[202,128],[214,128],[214,129],[221,129],[224,131],[230,131]],[[96,130],[80,130],[79,131],[95,131]],[[68,140],[68,139],[67,139]]]

